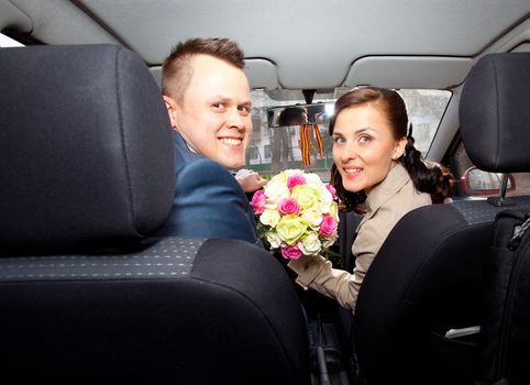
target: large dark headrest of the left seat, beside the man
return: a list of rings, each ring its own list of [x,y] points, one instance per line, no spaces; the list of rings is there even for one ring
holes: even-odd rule
[[[167,219],[172,130],[135,53],[0,50],[0,250],[112,246]]]

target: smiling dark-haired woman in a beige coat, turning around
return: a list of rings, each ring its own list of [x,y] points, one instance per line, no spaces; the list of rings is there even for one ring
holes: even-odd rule
[[[364,276],[397,221],[451,195],[450,175],[421,158],[407,138],[407,127],[405,102],[396,91],[358,88],[335,102],[331,183],[346,209],[358,211],[364,204],[365,211],[352,246],[355,268],[350,274],[312,256],[288,266],[298,274],[299,285],[335,298],[352,311]]]

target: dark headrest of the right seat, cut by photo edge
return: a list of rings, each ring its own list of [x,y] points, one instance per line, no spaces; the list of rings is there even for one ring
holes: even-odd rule
[[[487,172],[530,172],[530,53],[489,54],[470,72],[460,128],[470,158]]]

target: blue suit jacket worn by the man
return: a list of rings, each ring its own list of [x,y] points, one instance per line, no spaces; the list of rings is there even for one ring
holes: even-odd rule
[[[174,131],[176,191],[158,235],[229,238],[260,245],[252,207],[233,175],[189,150]]]

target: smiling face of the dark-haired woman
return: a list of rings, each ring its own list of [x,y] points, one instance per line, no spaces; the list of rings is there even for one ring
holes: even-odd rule
[[[406,138],[395,140],[383,110],[366,103],[342,110],[332,134],[333,161],[349,191],[382,183],[405,151]]]

